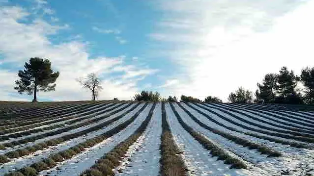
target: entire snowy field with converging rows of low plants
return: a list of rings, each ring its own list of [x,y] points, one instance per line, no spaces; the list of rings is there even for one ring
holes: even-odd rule
[[[0,102],[0,176],[314,176],[314,110]]]

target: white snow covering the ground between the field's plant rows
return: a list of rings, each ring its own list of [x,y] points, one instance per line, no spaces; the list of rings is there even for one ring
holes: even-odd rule
[[[148,103],[145,108],[144,102],[139,105],[137,105],[137,103],[128,105],[129,103],[130,102],[124,102],[124,104],[121,104],[121,102],[99,102],[90,107],[87,106],[89,104],[87,102],[82,102],[81,104],[78,103],[73,106],[71,106],[71,104],[56,104],[55,107],[42,109],[34,108],[33,110],[28,111],[23,111],[23,109],[26,109],[25,107],[21,107],[19,109],[14,106],[15,108],[12,108],[12,110],[8,111],[8,113],[19,113],[19,118],[16,119],[19,122],[23,120],[23,113],[27,114],[28,118],[25,120],[26,122],[32,122],[38,119],[38,115],[35,116],[36,114],[40,114],[42,117],[45,117],[45,115],[54,115],[54,113],[56,113],[56,117],[54,117],[54,119],[48,118],[47,121],[44,122],[51,122],[55,119],[62,120],[53,124],[36,126],[18,131],[20,133],[58,124],[62,124],[64,126],[43,130],[19,138],[10,138],[9,140],[1,141],[0,145],[56,131],[66,128],[67,126],[75,126],[84,122],[89,122],[89,120],[101,117],[105,118],[100,119],[97,122],[91,122],[88,125],[61,132],[59,134],[40,138],[34,142],[18,145],[14,148],[7,147],[5,149],[0,149],[0,161],[1,158],[5,157],[4,154],[9,151],[16,151],[18,149],[25,150],[27,147],[65,135],[76,134],[102,123],[112,123],[100,129],[98,128],[97,130],[90,131],[84,135],[71,138],[70,140],[59,143],[56,146],[48,146],[47,148],[37,150],[35,152],[29,152],[27,155],[24,154],[24,156],[9,159],[9,161],[6,162],[2,161],[3,163],[0,163],[0,176],[5,176],[6,174],[14,171],[22,172],[21,169],[25,167],[41,162],[43,159],[49,158],[52,154],[69,150],[78,144],[83,144],[87,140],[94,139],[107,131],[114,130],[124,122],[136,117],[129,125],[124,126],[123,129],[112,134],[109,138],[98,142],[92,147],[85,147],[85,151],[75,153],[68,159],[64,158],[63,161],[56,162],[56,164],[51,168],[41,168],[41,170],[34,175],[80,176],[80,174],[85,170],[90,169],[90,167],[93,166],[98,159],[106,155],[106,153],[113,150],[119,143],[131,136],[137,128],[141,126],[150,109],[153,107],[153,103]],[[182,153],[178,155],[182,158],[186,166],[185,171],[187,176],[314,176],[314,147],[313,149],[305,149],[283,144],[286,141],[304,144],[308,147],[314,146],[311,142],[302,141],[302,137],[312,139],[311,136],[314,136],[314,128],[312,127],[314,125],[314,112],[285,109],[285,106],[283,105],[274,104],[246,105],[179,103],[183,109],[175,102],[172,104],[175,109],[174,111],[177,112],[177,115],[182,118],[184,123],[192,127],[194,131],[206,138],[206,140],[215,144],[221,150],[226,151],[232,157],[239,159],[247,166],[246,169],[230,169],[230,165],[224,164],[224,160],[217,160],[217,156],[213,157],[209,150],[205,149],[203,145],[196,140],[196,138],[190,135],[190,133],[185,130],[183,126],[181,126],[170,104],[166,103],[165,109],[167,120],[171,128],[174,142],[179,147],[180,151],[182,151]],[[85,106],[87,108],[85,108]],[[105,109],[107,106],[108,108]],[[127,149],[119,161],[120,164],[113,169],[114,175],[160,176],[160,158],[162,157],[160,151],[162,135],[161,106],[162,103],[160,102],[156,104],[148,126],[136,142],[134,142]],[[73,111],[73,108],[77,108],[77,111]],[[112,110],[107,111],[111,108]],[[278,110],[276,108],[278,108]],[[67,110],[70,112],[67,112]],[[250,149],[249,147],[244,147],[242,144],[236,143],[235,141],[231,141],[230,138],[227,139],[219,133],[205,128],[206,126],[202,127],[197,120],[191,118],[186,111],[190,112],[197,120],[199,120],[200,123],[209,126],[210,128],[250,141],[253,144],[274,151],[279,151],[282,156],[268,157],[266,154],[261,154],[261,152],[257,151],[257,149]],[[32,113],[34,114],[34,118],[29,115]],[[72,118],[69,119],[68,117]],[[117,117],[120,118],[113,121]],[[70,125],[65,124],[76,119],[82,120],[78,122],[75,121]],[[12,121],[14,120],[15,119],[12,119]],[[39,122],[38,124],[41,123],[43,122]],[[0,126],[3,125],[0,124]],[[30,125],[25,126],[27,127]],[[14,128],[17,127],[23,127],[23,125],[16,126]],[[10,133],[7,133],[5,135],[9,134]],[[272,138],[274,140],[281,140],[282,143],[275,143],[263,138],[257,138],[251,134]],[[295,136],[300,137],[300,139],[291,139],[291,137]],[[23,174],[19,176],[23,176]],[[24,173],[24,176],[27,176],[27,174]],[[173,174],[173,176],[175,176],[175,174]]]

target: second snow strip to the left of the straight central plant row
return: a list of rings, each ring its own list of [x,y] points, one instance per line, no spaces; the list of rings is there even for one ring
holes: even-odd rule
[[[39,175],[47,175],[47,173],[50,173],[50,176],[54,176],[56,174],[58,176],[80,175],[83,171],[89,169],[93,164],[95,164],[95,161],[102,155],[111,151],[117,144],[132,135],[147,117],[151,106],[152,104],[147,105],[147,107],[140,113],[139,117],[132,124],[114,136],[106,139],[89,150],[84,151],[83,153],[75,155],[71,159],[58,163],[53,169],[40,172]],[[131,116],[128,117],[130,118]]]

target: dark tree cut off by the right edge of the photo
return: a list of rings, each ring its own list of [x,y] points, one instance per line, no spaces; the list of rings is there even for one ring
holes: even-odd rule
[[[314,67],[302,69],[301,81],[305,86],[305,101],[309,104],[314,103]]]

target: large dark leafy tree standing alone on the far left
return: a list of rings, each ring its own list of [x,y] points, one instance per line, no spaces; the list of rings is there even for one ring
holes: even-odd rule
[[[33,102],[37,101],[36,93],[39,91],[55,91],[57,77],[59,72],[53,72],[51,69],[51,62],[48,59],[34,57],[29,59],[29,63],[25,63],[24,71],[18,72],[19,80],[15,81],[17,84],[14,87],[18,93],[26,92],[28,95],[34,95]]]

